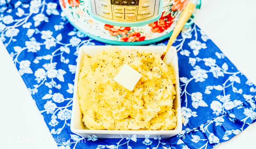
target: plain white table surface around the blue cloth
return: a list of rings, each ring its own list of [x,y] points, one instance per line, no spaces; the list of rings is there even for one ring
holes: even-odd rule
[[[195,23],[256,84],[256,1],[202,0]],[[57,149],[35,101],[0,41],[0,148]],[[252,148],[256,124],[217,149]]]

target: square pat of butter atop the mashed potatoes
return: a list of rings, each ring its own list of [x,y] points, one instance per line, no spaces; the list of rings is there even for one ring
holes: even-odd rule
[[[129,91],[132,91],[141,76],[142,75],[138,71],[127,64],[124,64],[118,74],[114,77],[114,80]]]

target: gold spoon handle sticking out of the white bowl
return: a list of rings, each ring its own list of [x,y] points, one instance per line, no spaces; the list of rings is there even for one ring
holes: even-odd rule
[[[175,39],[177,38],[177,36],[180,34],[180,31],[182,30],[182,28],[184,27],[185,23],[188,21],[189,17],[192,15],[194,9],[195,9],[195,4],[189,2],[185,9],[182,11],[181,15],[180,15],[180,19],[177,22],[177,25],[175,26],[172,35],[166,45],[166,48],[164,50],[164,53],[161,56],[161,59],[164,59],[165,54],[167,53],[167,51],[169,50],[169,48],[172,46],[172,43],[175,41]]]

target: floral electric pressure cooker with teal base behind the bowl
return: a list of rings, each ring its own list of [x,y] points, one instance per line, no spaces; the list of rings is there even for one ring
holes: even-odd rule
[[[69,22],[92,39],[112,45],[146,45],[171,36],[189,0],[59,1]],[[193,3],[200,8],[201,0]]]

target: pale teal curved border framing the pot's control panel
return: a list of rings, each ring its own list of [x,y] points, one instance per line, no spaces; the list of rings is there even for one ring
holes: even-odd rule
[[[104,19],[101,18],[99,16],[96,16],[92,13],[92,4],[91,4],[91,0],[89,0],[89,14],[92,16],[93,19],[96,19],[100,22],[103,22],[105,24],[109,24],[109,25],[114,25],[114,26],[123,26],[123,27],[130,27],[130,26],[143,26],[152,22],[157,21],[158,19],[161,18],[162,16],[162,11],[163,11],[163,4],[164,4],[164,0],[159,0],[159,10],[158,10],[158,15],[155,18],[152,19],[147,19],[147,20],[143,20],[143,21],[138,21],[138,22],[116,22],[116,21],[111,21],[108,19]]]

